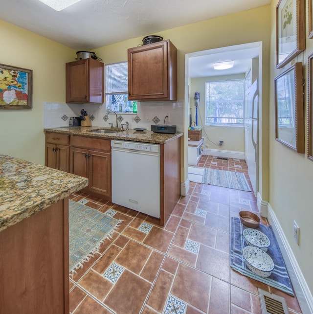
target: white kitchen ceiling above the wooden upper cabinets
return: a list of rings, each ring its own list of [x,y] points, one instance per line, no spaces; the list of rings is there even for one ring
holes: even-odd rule
[[[0,20],[76,50],[92,50],[269,3],[270,0],[81,0],[57,12],[39,0],[0,0]],[[213,55],[206,58],[212,61]],[[236,59],[236,67],[243,62],[242,54],[238,58],[224,55],[219,60],[225,58]],[[208,61],[201,60],[201,67],[202,62]]]

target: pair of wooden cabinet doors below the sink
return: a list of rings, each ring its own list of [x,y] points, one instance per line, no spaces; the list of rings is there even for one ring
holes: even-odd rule
[[[111,200],[111,153],[71,147],[70,165],[72,174],[89,179],[87,192]]]

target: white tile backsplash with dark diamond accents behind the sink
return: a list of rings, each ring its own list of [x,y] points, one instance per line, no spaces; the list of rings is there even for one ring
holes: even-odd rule
[[[106,115],[105,104],[66,104],[66,103],[44,103],[44,128],[57,128],[68,126],[70,117],[80,116],[80,111],[85,109],[91,120],[92,126],[110,127],[109,123],[115,125],[116,116]],[[177,126],[177,131],[183,131],[183,102],[138,102],[137,113],[119,113],[118,125],[121,121],[129,123],[129,128],[146,128],[151,130],[153,124],[164,124],[166,115],[171,117],[167,124]]]

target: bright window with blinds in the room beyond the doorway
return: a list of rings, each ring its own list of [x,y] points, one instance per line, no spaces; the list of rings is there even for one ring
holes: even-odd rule
[[[244,125],[245,79],[206,82],[205,90],[205,125]]]

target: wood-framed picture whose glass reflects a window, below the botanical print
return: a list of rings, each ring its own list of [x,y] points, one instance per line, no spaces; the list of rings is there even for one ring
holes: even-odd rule
[[[302,62],[274,78],[276,140],[304,153]]]

